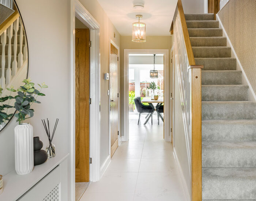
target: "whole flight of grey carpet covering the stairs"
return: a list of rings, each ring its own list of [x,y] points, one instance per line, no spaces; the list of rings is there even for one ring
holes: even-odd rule
[[[203,201],[256,201],[256,102],[213,14],[185,14],[202,69]]]

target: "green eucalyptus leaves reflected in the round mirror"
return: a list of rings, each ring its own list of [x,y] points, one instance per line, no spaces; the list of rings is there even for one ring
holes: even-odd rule
[[[11,87],[10,91],[16,91],[13,89],[13,87]],[[3,88],[0,87],[0,96],[3,93]],[[4,97],[0,97],[0,123],[5,123],[5,121],[9,121],[10,117],[12,117],[12,114],[8,114],[8,109],[12,108],[13,106],[9,105],[10,104],[10,99],[12,99],[14,97],[11,96],[4,96]],[[6,102],[8,100],[7,104],[4,104],[4,102]],[[6,112],[4,112],[4,110],[6,109]]]

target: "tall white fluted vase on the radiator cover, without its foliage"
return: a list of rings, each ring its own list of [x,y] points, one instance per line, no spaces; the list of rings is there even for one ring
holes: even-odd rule
[[[33,126],[17,125],[14,128],[15,171],[19,175],[29,174],[34,167]]]

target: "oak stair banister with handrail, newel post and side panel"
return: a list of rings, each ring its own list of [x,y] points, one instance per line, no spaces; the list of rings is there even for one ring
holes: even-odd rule
[[[174,62],[181,94],[185,143],[191,176],[191,200],[202,201],[201,71],[203,66],[195,63],[181,0],[178,0],[170,32],[174,35]]]

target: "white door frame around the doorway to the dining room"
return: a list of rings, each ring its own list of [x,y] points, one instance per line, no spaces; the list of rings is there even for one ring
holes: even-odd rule
[[[128,102],[128,96],[129,96],[129,54],[163,54],[164,55],[164,113],[168,114],[169,112],[169,50],[168,49],[124,49],[124,92],[123,92],[123,124],[122,128],[124,128],[124,136],[122,138],[123,141],[129,140],[129,102]],[[165,115],[164,117],[164,132],[165,132],[165,141],[170,141],[170,132],[169,132],[169,115]]]

